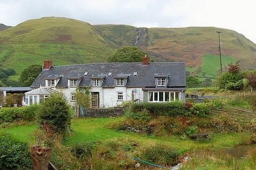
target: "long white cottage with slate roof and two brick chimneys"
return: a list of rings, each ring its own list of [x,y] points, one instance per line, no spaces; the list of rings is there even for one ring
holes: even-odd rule
[[[62,92],[74,104],[77,88],[90,88],[98,96],[92,107],[114,107],[123,101],[171,102],[185,101],[185,62],[93,63],[52,66],[44,62],[44,70],[31,88],[44,86]],[[39,102],[29,97],[27,103]],[[47,96],[47,95],[46,95]]]

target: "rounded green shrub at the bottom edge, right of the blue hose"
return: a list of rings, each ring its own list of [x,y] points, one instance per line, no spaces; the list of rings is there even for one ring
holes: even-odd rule
[[[177,163],[178,156],[177,150],[163,145],[147,147],[142,154],[142,157],[150,163],[169,166]]]

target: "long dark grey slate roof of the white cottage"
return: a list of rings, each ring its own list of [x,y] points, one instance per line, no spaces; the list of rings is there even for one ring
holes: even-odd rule
[[[84,75],[88,72],[87,75]],[[137,72],[137,76],[133,73]],[[108,73],[112,73],[108,76]],[[127,77],[127,87],[154,87],[155,77],[169,77],[167,87],[186,87],[185,62],[154,62],[149,65],[142,63],[94,63],[54,66],[43,70],[31,85],[32,88],[45,86],[45,78],[60,78],[56,87],[68,87],[69,78],[81,78],[79,87],[91,86],[91,78],[105,77],[102,87],[114,87],[116,77]]]

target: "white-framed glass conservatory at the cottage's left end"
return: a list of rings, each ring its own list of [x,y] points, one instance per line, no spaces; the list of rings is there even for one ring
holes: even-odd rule
[[[46,100],[51,94],[57,93],[57,90],[54,90],[50,87],[40,87],[35,90],[31,90],[25,93],[25,105],[33,105],[42,103]]]

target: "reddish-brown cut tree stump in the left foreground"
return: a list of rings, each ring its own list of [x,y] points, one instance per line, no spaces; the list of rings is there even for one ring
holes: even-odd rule
[[[44,148],[38,145],[31,147],[31,159],[34,170],[47,170],[51,154],[51,148]]]

